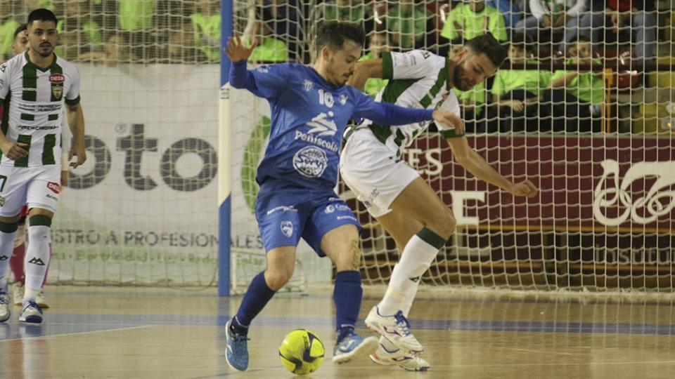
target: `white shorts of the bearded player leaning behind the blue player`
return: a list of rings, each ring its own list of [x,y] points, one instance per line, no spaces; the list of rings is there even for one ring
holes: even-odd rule
[[[399,161],[369,128],[356,130],[340,155],[340,175],[368,213],[380,217],[420,174]]]

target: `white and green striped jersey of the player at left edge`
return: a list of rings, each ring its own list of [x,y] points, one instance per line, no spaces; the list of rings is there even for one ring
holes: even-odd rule
[[[0,152],[0,164],[33,167],[61,163],[63,102],[79,102],[79,72],[72,63],[54,56],[46,69],[34,65],[28,53],[0,65],[2,132],[8,140],[28,145],[28,155],[15,161]]]

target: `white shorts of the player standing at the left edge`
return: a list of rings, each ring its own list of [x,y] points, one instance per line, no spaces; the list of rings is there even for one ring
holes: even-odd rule
[[[56,211],[61,166],[15,167],[0,164],[0,216],[18,215],[21,207]]]

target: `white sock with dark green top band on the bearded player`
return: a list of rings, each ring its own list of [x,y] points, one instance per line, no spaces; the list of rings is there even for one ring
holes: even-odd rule
[[[401,254],[401,260],[394,266],[387,293],[378,304],[380,314],[390,316],[399,310],[404,316],[408,314],[422,275],[429,270],[439,248],[444,244],[445,240],[442,237],[427,228],[420,230],[408,241]]]

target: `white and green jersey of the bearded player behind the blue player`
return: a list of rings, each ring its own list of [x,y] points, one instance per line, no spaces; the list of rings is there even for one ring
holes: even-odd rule
[[[436,109],[454,112],[461,117],[459,102],[448,85],[448,59],[428,51],[382,53],[383,79],[387,86],[375,97],[376,101],[391,102],[401,107]],[[388,126],[365,120],[358,128],[371,128],[375,137],[401,157],[403,150],[418,135],[427,130],[430,121],[402,126]],[[458,137],[454,126],[436,125],[444,138]]]

